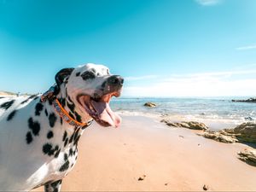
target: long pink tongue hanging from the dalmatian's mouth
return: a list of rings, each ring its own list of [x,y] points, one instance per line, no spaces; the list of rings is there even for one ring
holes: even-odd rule
[[[99,114],[99,119],[108,122],[109,125],[118,127],[121,123],[121,118],[118,114],[113,113],[109,107],[108,102],[94,102],[91,101],[91,104],[96,109],[96,112]]]

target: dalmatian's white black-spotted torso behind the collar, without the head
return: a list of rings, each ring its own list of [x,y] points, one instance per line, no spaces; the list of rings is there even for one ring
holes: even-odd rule
[[[2,108],[0,116],[0,189],[3,190],[30,190],[60,180],[70,172],[78,155],[76,140],[69,143],[74,129],[64,122],[61,125],[61,118],[49,102],[42,103],[36,96],[21,104],[26,100],[0,100],[1,104],[14,101],[8,109]],[[37,105],[42,110],[37,110]],[[65,131],[69,139],[66,146],[65,140],[62,141]],[[77,137],[82,132],[80,129]]]

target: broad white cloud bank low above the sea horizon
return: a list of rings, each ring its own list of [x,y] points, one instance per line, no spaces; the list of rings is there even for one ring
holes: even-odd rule
[[[154,84],[128,86],[124,96],[255,96],[256,70],[172,75]],[[232,76],[232,78],[231,78]],[[236,76],[235,78],[233,76]]]

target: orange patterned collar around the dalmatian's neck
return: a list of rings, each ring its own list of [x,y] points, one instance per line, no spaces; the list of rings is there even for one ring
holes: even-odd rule
[[[84,129],[85,127],[89,126],[93,120],[90,120],[87,123],[80,123],[79,121],[73,119],[70,117],[70,115],[67,113],[67,111],[62,108],[61,103],[54,95],[55,92],[55,84],[49,88],[42,96],[41,96],[41,102],[46,102],[47,99],[49,99],[53,107],[55,108],[55,112],[59,114],[61,119],[65,120],[69,125],[73,125],[76,127],[81,127]]]

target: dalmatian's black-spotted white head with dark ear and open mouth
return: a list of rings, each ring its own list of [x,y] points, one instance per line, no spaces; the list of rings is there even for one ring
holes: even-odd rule
[[[91,117],[102,126],[120,124],[119,115],[109,107],[112,96],[120,96],[124,79],[109,73],[108,67],[86,64],[64,68],[55,75],[61,95],[73,102],[74,110],[83,119]]]

